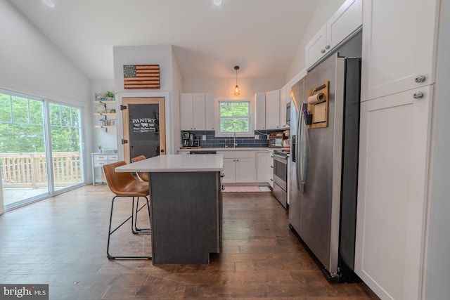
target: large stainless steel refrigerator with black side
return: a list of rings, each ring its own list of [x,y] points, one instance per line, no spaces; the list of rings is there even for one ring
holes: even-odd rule
[[[353,270],[360,78],[360,58],[335,54],[292,86],[290,228],[330,282],[359,280]],[[311,91],[327,81],[328,126],[307,124]]]

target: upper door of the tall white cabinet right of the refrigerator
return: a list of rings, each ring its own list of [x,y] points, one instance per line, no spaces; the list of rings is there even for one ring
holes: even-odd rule
[[[361,100],[433,84],[437,0],[364,0]]]

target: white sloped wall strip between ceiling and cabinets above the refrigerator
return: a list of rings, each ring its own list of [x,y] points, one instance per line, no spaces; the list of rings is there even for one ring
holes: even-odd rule
[[[316,6],[316,10],[309,22],[307,30],[304,32],[302,41],[297,49],[297,53],[290,64],[290,68],[285,77],[285,82],[290,81],[297,73],[304,70],[306,64],[304,60],[304,46],[306,46],[309,40],[319,32],[321,27],[325,25],[326,21],[338,11],[338,8],[345,2],[345,0],[319,0],[319,4]]]

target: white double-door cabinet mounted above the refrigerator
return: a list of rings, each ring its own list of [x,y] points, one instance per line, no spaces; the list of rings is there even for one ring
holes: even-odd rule
[[[362,0],[347,0],[305,46],[307,69],[362,25]]]

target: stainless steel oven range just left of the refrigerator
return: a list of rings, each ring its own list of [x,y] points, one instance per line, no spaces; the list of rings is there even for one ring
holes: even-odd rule
[[[274,151],[274,189],[276,199],[288,208],[288,155],[285,152]]]

